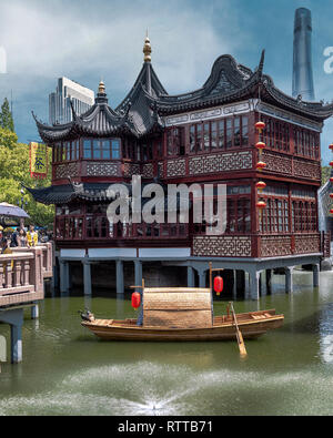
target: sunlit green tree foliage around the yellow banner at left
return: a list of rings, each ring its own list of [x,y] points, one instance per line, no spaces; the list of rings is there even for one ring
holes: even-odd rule
[[[49,175],[44,180],[31,179],[29,145],[17,143],[17,140],[14,133],[0,128],[0,202],[13,205],[18,205],[19,202],[21,205],[21,197],[23,197],[23,208],[31,217],[26,221],[26,224],[52,226],[54,206],[37,203],[27,191],[23,196],[21,194],[21,183],[28,187],[49,186],[51,172],[49,170]],[[51,163],[51,151],[48,153],[49,163]]]

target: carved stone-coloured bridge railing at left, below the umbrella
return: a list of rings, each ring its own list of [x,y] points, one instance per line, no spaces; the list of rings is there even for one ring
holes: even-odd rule
[[[43,299],[43,252],[37,246],[0,255],[0,307]]]

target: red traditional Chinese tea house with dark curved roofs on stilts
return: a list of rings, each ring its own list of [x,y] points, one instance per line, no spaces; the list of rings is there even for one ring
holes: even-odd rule
[[[36,119],[53,151],[52,185],[30,192],[56,205],[61,288],[69,287],[72,261],[83,264],[85,293],[91,264],[100,261],[115,262],[120,293],[124,262],[134,263],[135,284],[142,264],[159,261],[183,266],[188,285],[204,287],[212,261],[248,272],[253,298],[260,273],[275,267],[285,268],[291,289],[292,267],[313,265],[316,284],[329,254],[329,236],[317,224],[320,134],[333,105],[280,91],[263,73],[264,52],[254,71],[224,54],[200,89],[170,95],[152,67],[149,38],[143,53],[138,79],[115,109],[101,82],[88,112],[72,108],[72,122],[49,126]],[[109,185],[130,184],[138,174],[142,183],[226,184],[225,233],[210,236],[205,223],[191,222],[111,226]]]

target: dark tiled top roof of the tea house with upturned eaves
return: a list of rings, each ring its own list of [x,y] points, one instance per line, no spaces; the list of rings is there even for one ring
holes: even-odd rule
[[[258,99],[259,91],[263,101],[316,121],[323,121],[333,114],[333,103],[324,105],[323,102],[303,102],[302,99],[283,93],[269,75],[263,74],[263,64],[264,51],[254,71],[224,54],[216,59],[201,89],[169,95],[151,63],[144,62],[134,85],[115,110],[108,105],[107,94],[100,92],[87,113],[77,115],[72,108],[71,123],[49,126],[34,119],[42,140],[53,143],[80,135],[142,137],[163,129],[160,115],[200,110],[242,99]]]

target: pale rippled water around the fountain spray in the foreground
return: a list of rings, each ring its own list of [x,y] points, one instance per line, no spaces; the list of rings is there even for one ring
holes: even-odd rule
[[[333,377],[313,371],[193,373],[185,366],[138,363],[71,374],[52,391],[0,400],[0,414],[317,415],[320,408],[330,415],[332,390]]]

